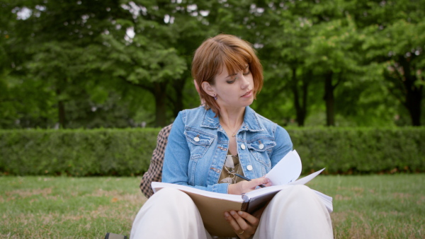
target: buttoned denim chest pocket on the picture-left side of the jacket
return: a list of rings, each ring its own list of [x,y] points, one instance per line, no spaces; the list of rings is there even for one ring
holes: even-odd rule
[[[184,134],[186,135],[186,141],[188,141],[188,147],[191,151],[191,160],[202,158],[215,139],[214,135],[191,127],[186,127]]]

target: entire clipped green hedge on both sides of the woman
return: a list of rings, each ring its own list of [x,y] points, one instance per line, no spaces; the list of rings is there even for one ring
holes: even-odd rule
[[[159,129],[0,130],[1,175],[142,175]],[[425,172],[425,128],[288,129],[303,173]]]

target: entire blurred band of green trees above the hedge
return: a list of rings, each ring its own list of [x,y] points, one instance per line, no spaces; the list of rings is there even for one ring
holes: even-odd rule
[[[219,33],[254,45],[282,126],[424,123],[425,1],[2,0],[0,128],[170,124]]]

